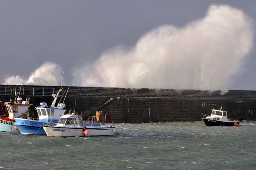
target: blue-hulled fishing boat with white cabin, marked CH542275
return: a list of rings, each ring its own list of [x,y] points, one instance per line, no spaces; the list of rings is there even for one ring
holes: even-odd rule
[[[64,103],[58,103],[57,107],[55,107],[56,100],[58,99],[59,93],[63,89],[58,90],[57,94],[52,94],[54,100],[51,106],[47,106],[47,103],[41,102],[39,107],[36,107],[36,111],[38,114],[38,119],[32,120],[27,118],[15,118],[15,127],[22,134],[40,134],[46,135],[42,125],[48,125],[49,122],[53,125],[57,124],[56,119],[63,116],[66,109],[66,105]],[[67,94],[66,94],[67,95]]]

